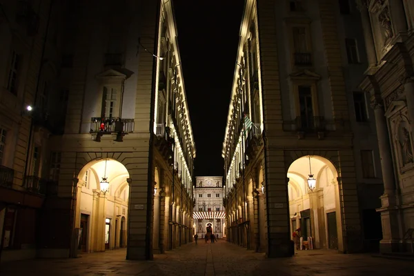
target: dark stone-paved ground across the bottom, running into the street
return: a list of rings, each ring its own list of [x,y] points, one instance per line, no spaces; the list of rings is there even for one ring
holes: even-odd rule
[[[295,257],[266,259],[262,253],[219,240],[215,244],[187,244],[153,261],[125,259],[126,250],[81,255],[77,259],[34,259],[3,263],[1,276],[11,275],[414,275],[413,262],[343,255],[331,250],[299,251]]]

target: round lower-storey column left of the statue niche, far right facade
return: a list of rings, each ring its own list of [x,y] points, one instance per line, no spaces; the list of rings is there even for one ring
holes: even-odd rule
[[[386,124],[384,106],[379,100],[375,99],[373,103],[371,103],[371,107],[375,112],[375,126],[377,127],[377,139],[380,148],[384,195],[391,196],[394,195],[395,192],[394,166],[393,159],[391,158],[392,153],[388,139],[388,127]]]

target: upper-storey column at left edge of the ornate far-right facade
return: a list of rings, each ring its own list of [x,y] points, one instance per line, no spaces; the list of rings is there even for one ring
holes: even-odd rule
[[[364,41],[366,46],[368,67],[372,67],[377,64],[377,54],[375,52],[373,29],[371,26],[371,19],[369,17],[366,0],[357,0],[357,8],[359,12],[361,12],[362,29],[364,30]]]

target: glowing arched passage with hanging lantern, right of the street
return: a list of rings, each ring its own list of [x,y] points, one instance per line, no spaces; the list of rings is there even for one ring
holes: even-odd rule
[[[310,175],[316,179],[313,190],[308,184]],[[290,230],[296,248],[341,250],[342,220],[335,166],[324,157],[304,156],[290,164],[287,177]],[[298,233],[302,241],[295,237]]]

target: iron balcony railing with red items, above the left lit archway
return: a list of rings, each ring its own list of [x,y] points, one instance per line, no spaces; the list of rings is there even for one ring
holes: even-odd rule
[[[134,119],[121,119],[119,117],[92,117],[90,119],[90,132],[110,134],[112,132],[131,133],[134,131]]]

